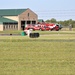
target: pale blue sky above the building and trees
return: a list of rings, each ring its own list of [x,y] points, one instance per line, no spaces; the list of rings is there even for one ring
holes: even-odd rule
[[[75,0],[1,0],[0,9],[30,8],[38,19],[75,20]]]

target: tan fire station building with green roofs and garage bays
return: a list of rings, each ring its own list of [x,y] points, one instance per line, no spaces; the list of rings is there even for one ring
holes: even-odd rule
[[[36,24],[37,22],[37,14],[29,8],[0,10],[0,31],[24,30],[26,24]]]

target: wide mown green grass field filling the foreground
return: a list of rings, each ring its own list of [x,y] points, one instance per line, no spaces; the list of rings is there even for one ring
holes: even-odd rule
[[[0,36],[0,75],[75,75],[75,32],[40,34]]]

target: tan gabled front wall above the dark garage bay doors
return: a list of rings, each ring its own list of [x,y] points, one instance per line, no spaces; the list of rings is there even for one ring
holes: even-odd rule
[[[18,15],[18,30],[21,30],[21,21],[36,21],[38,22],[38,16],[30,9],[26,10],[22,14]]]

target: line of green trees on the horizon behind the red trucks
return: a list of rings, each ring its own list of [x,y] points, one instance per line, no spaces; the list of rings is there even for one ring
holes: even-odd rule
[[[56,19],[52,18],[50,20],[46,20],[45,22],[47,23],[58,23],[63,25],[64,27],[72,26],[75,28],[75,20],[69,19],[69,20],[64,20],[64,21],[57,21]]]

